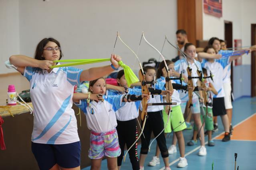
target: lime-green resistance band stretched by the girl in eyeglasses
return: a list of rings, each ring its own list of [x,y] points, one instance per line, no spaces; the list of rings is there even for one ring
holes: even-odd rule
[[[56,67],[67,67],[67,66],[74,66],[74,65],[83,65],[83,64],[91,64],[91,63],[100,63],[104,61],[110,61],[110,58],[103,58],[103,59],[63,59],[63,60],[56,60],[53,61],[54,63],[60,63],[60,62],[70,62],[66,64],[60,64],[60,65],[54,65],[50,68],[56,68]],[[118,62],[119,65],[123,68],[125,72],[125,79],[127,81],[128,87],[131,86],[131,84],[138,82],[138,77],[133,73],[131,68],[128,65],[125,65],[123,61]]]

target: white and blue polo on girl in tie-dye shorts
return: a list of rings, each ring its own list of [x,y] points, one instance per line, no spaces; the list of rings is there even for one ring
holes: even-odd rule
[[[115,112],[125,105],[122,98],[123,95],[103,96],[103,102],[91,101],[91,106],[87,105],[86,99],[75,104],[85,113],[89,130],[109,132],[117,127]]]

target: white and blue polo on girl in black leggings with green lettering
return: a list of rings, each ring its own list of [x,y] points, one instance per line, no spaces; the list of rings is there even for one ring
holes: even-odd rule
[[[141,89],[128,89],[129,95],[141,95]],[[108,95],[122,95],[119,91],[108,90]],[[126,102],[125,106],[115,112],[118,121],[129,121],[139,116],[139,105],[141,101]]]

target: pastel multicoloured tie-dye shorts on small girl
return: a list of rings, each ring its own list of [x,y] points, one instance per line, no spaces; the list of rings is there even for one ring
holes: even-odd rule
[[[120,156],[121,149],[119,147],[117,131],[109,132],[93,132],[90,137],[90,159],[100,159],[103,156],[115,158]]]

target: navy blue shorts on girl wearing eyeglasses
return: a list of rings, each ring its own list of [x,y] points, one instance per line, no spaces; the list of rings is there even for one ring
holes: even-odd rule
[[[31,144],[40,170],[49,170],[55,164],[62,168],[80,166],[80,141],[69,144]]]

